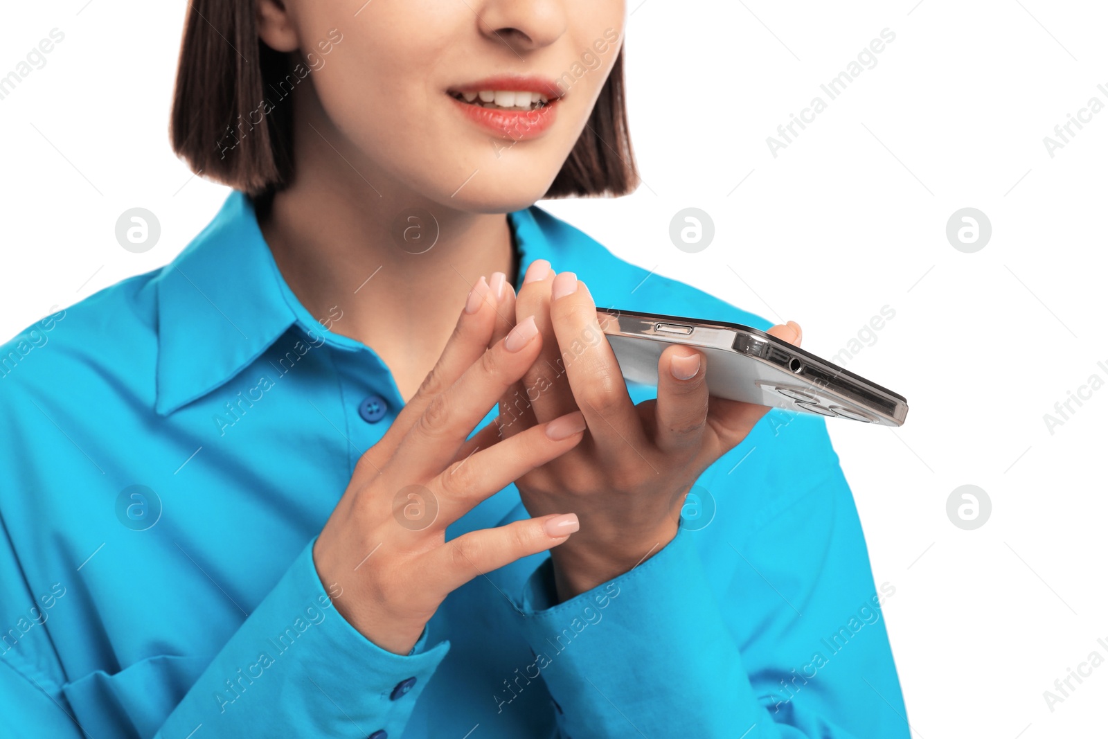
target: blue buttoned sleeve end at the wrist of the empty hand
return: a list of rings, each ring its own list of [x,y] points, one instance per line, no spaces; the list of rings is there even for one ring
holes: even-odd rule
[[[334,607],[319,579],[315,538],[216,655],[160,733],[198,723],[215,736],[399,737],[450,648],[387,651]],[[341,593],[337,594],[341,597]]]

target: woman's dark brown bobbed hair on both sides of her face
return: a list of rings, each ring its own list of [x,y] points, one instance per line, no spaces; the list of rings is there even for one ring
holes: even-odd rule
[[[293,110],[284,97],[306,68],[258,38],[255,0],[192,0],[188,10],[170,123],[173,148],[193,172],[265,199],[291,181]],[[625,195],[637,185],[620,49],[545,197]]]

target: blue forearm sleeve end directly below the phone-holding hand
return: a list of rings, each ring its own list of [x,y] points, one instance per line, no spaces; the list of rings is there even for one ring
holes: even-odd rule
[[[556,605],[550,560],[527,579],[516,610],[535,661],[524,675],[542,676],[563,735],[730,736],[758,709],[695,540],[679,528],[643,564]]]

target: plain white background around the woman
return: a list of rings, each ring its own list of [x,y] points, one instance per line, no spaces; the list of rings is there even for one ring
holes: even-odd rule
[[[1089,97],[1108,103],[1108,10],[635,2],[629,109],[645,184],[547,207],[625,259],[798,320],[823,356],[895,310],[849,367],[907,397],[906,425],[829,427],[874,577],[896,587],[884,613],[914,733],[1102,736],[1108,665],[1053,712],[1043,691],[1090,651],[1108,657],[1108,389],[1053,434],[1043,417],[1090,374],[1108,380],[1108,111],[1054,157],[1043,138]],[[0,100],[0,336],[167,263],[223,202],[168,145],[184,12],[181,0],[0,10],[0,75],[52,28],[65,33]],[[814,95],[828,101],[819,85],[885,28],[896,38],[876,66],[772,156],[767,136]],[[162,225],[140,255],[114,236],[135,206]],[[689,206],[716,229],[697,254],[668,236]],[[967,206],[993,226],[973,254],[945,236]],[[963,484],[992,500],[975,531],[947,519]]]

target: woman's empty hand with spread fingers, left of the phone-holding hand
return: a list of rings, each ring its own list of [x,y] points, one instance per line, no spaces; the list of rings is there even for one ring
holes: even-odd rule
[[[492,342],[496,317],[496,297],[482,277],[434,369],[358,460],[312,550],[321,582],[341,588],[332,597],[343,618],[399,655],[451,591],[577,531],[576,515],[564,513],[445,541],[449,524],[584,435],[575,411],[504,440],[493,422],[466,440],[542,348],[533,318]]]

